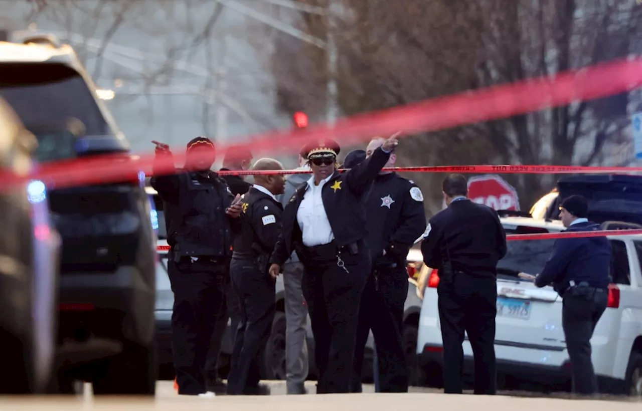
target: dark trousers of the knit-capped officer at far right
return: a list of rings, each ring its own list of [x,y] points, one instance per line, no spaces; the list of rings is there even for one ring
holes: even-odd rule
[[[598,382],[591,361],[591,337],[606,310],[608,293],[607,290],[592,289],[578,294],[564,294],[562,328],[571,360],[573,392],[595,394],[598,392]]]

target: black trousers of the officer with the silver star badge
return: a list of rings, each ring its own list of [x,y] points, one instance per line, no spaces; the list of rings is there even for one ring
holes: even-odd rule
[[[363,351],[370,330],[379,362],[379,390],[408,392],[408,366],[402,346],[407,296],[408,273],[404,267],[373,267],[361,296],[352,392],[362,390]]]

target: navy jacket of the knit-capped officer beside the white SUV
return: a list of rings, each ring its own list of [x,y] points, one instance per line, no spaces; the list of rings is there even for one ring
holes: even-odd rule
[[[578,222],[566,232],[598,230],[598,224]],[[586,281],[589,287],[606,289],[609,287],[610,266],[611,244],[606,237],[557,239],[544,269],[535,278],[535,285],[544,287],[553,283],[553,288],[560,295],[568,289],[569,281],[575,281],[576,284]]]

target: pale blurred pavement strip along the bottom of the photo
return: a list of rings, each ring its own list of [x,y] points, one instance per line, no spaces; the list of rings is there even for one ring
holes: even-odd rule
[[[475,411],[569,411],[570,408],[582,411],[612,411],[639,410],[639,401],[570,401],[557,398],[521,398],[517,396],[453,396],[444,395],[429,389],[412,389],[409,394],[372,394],[372,385],[365,387],[363,394],[327,394],[286,396],[283,382],[270,382],[272,396],[218,396],[214,398],[198,398],[178,396],[171,382],[159,382],[155,399],[144,400],[135,398],[94,399],[91,387],[87,387],[83,396],[75,398],[0,398],[2,410],[252,410],[256,411],[395,411],[395,410],[475,410]],[[314,384],[309,383],[310,392],[314,392]]]

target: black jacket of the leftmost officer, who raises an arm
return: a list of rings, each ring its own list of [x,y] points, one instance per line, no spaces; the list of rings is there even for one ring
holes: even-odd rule
[[[157,153],[156,159],[171,153]],[[177,169],[154,176],[152,187],[163,201],[171,258],[212,256],[229,258],[232,224],[225,214],[234,197],[216,172]]]

